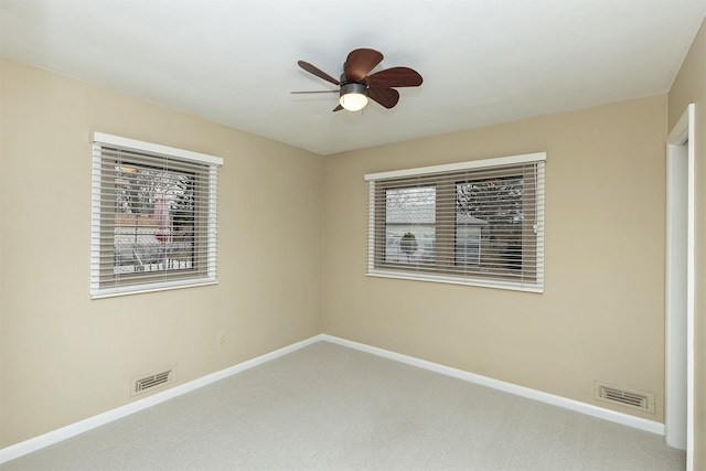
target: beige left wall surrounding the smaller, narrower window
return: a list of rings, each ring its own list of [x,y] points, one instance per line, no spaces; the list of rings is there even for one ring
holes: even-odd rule
[[[1,66],[0,448],[133,400],[132,376],[181,384],[321,333],[322,157]],[[225,160],[220,285],[89,299],[92,131]]]

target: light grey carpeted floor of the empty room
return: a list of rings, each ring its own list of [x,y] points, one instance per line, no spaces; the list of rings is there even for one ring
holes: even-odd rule
[[[684,468],[661,436],[319,342],[0,470]]]

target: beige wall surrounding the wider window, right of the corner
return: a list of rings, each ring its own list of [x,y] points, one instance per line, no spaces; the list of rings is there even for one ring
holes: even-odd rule
[[[666,96],[327,159],[324,332],[600,407],[664,418]],[[365,173],[547,152],[543,295],[365,277]],[[631,414],[631,410],[616,408]]]

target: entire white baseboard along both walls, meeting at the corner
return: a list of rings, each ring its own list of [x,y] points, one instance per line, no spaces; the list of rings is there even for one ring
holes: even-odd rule
[[[427,362],[425,360],[419,360],[414,356],[403,355],[400,353],[391,352],[388,350],[378,349],[376,346],[353,342],[353,341],[341,339],[338,336],[319,334],[310,339],[303,340],[301,342],[291,344],[289,346],[285,346],[282,349],[276,350],[274,352],[266,353],[265,355],[257,356],[253,360],[238,363],[237,365],[227,367],[225,370],[221,370],[220,372],[215,372],[210,375],[200,377],[199,379],[194,379],[192,382],[184,383],[179,386],[174,386],[161,393],[156,393],[143,399],[136,400],[135,403],[130,403],[125,406],[117,407],[106,413],[89,417],[85,420],[71,424],[66,427],[62,427],[60,429],[52,430],[39,437],[34,437],[29,440],[21,441],[10,447],[3,448],[0,450],[0,464],[8,462],[10,460],[14,460],[15,458],[20,458],[33,451],[40,450],[44,447],[49,447],[51,445],[75,437],[79,433],[92,430],[94,428],[98,428],[114,420],[121,419],[131,414],[139,413],[140,410],[143,410],[148,407],[152,407],[165,400],[172,399],[176,396],[181,396],[182,394],[190,393],[194,389],[206,386],[216,381],[235,375],[245,370],[249,370],[254,366],[261,365],[271,360],[287,355],[288,353],[295,352],[299,349],[303,349],[304,346],[311,345],[320,341],[331,342],[342,346],[347,346],[351,349],[372,353],[374,355],[383,356],[389,360],[395,360],[397,362],[406,363],[411,366],[417,366],[417,367],[429,370],[447,376],[452,376],[459,379],[468,381],[470,383],[475,383],[482,386],[488,386],[494,389],[512,393],[517,396],[523,396],[530,399],[535,399],[542,403],[547,403],[554,406],[575,410],[577,413],[598,417],[603,420],[627,425],[629,427],[633,427],[640,430],[645,430],[652,433],[664,435],[664,424],[660,424],[654,420],[646,420],[639,417],[630,416],[628,414],[616,413],[612,410],[603,409],[601,407],[591,406],[586,403],[580,403],[578,400],[568,399],[561,396],[555,396],[553,394],[543,393],[543,392],[531,389],[523,386],[517,386],[511,383],[505,383],[505,382],[493,379],[486,376],[477,375],[473,373],[464,372],[462,370],[452,368],[450,366],[440,365],[438,363]]]

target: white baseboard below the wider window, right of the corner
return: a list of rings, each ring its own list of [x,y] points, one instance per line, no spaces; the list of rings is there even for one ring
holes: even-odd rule
[[[403,355],[400,353],[391,352],[388,350],[378,349],[376,346],[366,345],[364,343],[357,343],[350,340],[327,335],[321,335],[321,340],[336,343],[339,345],[347,346],[351,349],[360,350],[363,352],[372,353],[374,355],[383,356],[397,362],[406,363],[411,366],[417,366],[424,370],[429,370],[436,373],[440,373],[447,376],[452,376],[458,379],[468,381],[470,383],[479,384],[481,386],[492,387],[493,389],[500,389],[505,393],[515,394],[517,396],[526,397],[542,403],[550,404],[553,406],[563,407],[577,413],[586,414],[588,416],[597,417],[599,419],[608,420],[616,424],[625,425],[628,427],[637,428],[640,430],[649,431],[656,435],[664,435],[664,424],[660,424],[654,420],[648,420],[640,417],[634,417],[628,414],[617,413],[614,410],[603,409],[602,407],[591,406],[590,404],[581,403],[566,397],[556,396],[554,394],[543,393],[541,390],[531,389],[528,387],[517,386],[512,383],[505,383],[499,379],[493,379],[488,376],[477,375],[462,370],[452,368],[450,366],[440,365],[438,363],[427,362],[414,356]]]

